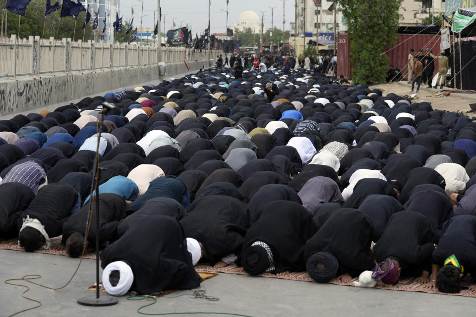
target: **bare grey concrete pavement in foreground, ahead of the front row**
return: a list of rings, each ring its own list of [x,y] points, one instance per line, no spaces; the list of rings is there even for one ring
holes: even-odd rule
[[[3,283],[8,278],[41,274],[36,280],[49,286],[62,286],[73,273],[78,259],[39,253],[0,250],[0,316],[8,316],[36,303],[21,298],[22,287]],[[140,316],[137,309],[146,301],[119,298],[119,304],[93,308],[81,306],[77,299],[94,292],[86,291],[95,282],[95,261],[85,259],[78,273],[66,288],[58,291],[29,285],[26,294],[43,306],[20,314],[25,317]],[[21,281],[23,284],[29,284]],[[179,291],[162,297],[143,310],[145,313],[225,312],[252,317],[274,316],[473,316],[476,298],[461,296],[363,289],[332,284],[317,284],[283,279],[219,274],[202,283],[208,296],[219,301],[192,299],[192,291]],[[101,292],[101,294],[104,294]],[[180,316],[221,316],[211,314]],[[224,316],[224,315],[222,315]]]

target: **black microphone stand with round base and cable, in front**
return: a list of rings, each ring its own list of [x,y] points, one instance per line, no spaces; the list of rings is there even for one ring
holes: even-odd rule
[[[98,143],[96,147],[96,156],[94,159],[94,174],[93,174],[93,183],[91,185],[91,198],[89,199],[89,214],[88,218],[86,221],[86,231],[88,232],[88,227],[89,227],[89,219],[91,217],[91,213],[93,212],[93,194],[94,194],[94,199],[95,199],[95,205],[96,205],[96,296],[84,296],[78,299],[78,304],[84,305],[84,306],[112,306],[116,305],[118,303],[118,299],[116,297],[112,297],[109,295],[105,295],[103,297],[99,297],[99,164],[98,164],[98,156],[99,156],[99,143],[101,140],[101,132],[102,132],[102,126],[104,122],[104,113],[108,110],[107,107],[102,109],[99,114],[98,114]],[[87,235],[84,235],[84,246],[86,246],[88,237]]]

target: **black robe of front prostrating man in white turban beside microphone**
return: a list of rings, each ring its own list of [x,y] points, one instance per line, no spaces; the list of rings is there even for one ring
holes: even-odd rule
[[[101,267],[125,261],[132,268],[138,295],[167,289],[192,289],[201,277],[193,268],[185,234],[171,217],[154,215],[134,223],[101,253]]]

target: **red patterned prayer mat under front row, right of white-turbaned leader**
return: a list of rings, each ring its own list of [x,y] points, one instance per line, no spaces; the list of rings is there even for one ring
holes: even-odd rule
[[[196,271],[200,272],[219,272],[219,273],[227,273],[227,274],[240,274],[240,275],[249,275],[244,271],[242,267],[238,267],[236,264],[230,264],[224,267],[213,267],[209,265],[197,265],[195,266]],[[312,278],[309,277],[307,272],[290,272],[289,275],[276,275],[272,273],[263,273],[260,274],[259,276],[263,277],[271,277],[271,278],[281,278],[281,279],[288,279],[292,281],[305,281],[305,282],[314,282]],[[350,282],[342,282],[338,281],[336,278],[334,278],[332,281],[329,282],[329,284],[335,284],[335,285],[345,285],[345,286],[354,286],[354,281],[357,281],[358,277],[352,279]],[[431,294],[442,294],[442,295],[455,295],[455,296],[466,296],[466,297],[476,297],[476,293],[473,293],[469,290],[461,290],[460,293],[457,294],[448,294],[448,293],[442,293],[438,291],[437,289],[426,289],[423,288],[423,284],[417,283],[416,278],[410,278],[410,279],[403,279],[400,280],[397,284],[391,285],[391,286],[386,286],[385,284],[379,282],[377,285],[374,286],[374,288],[380,288],[380,289],[386,289],[386,290],[394,290],[394,291],[407,291],[407,292],[423,292],[423,293],[431,293]],[[461,282],[462,286],[469,286],[472,285],[471,283],[466,282],[463,280]]]

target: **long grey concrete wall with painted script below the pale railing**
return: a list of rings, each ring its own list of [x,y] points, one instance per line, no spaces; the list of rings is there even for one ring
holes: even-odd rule
[[[166,77],[196,72],[213,64],[212,59],[205,62],[188,61],[190,70],[187,70],[183,62],[171,63],[167,65],[166,76],[159,76],[158,66],[148,66],[4,80],[0,81],[0,116],[54,104],[68,104],[68,101],[116,91],[119,87],[131,87],[149,81],[158,84]]]

